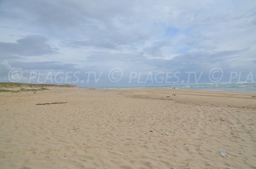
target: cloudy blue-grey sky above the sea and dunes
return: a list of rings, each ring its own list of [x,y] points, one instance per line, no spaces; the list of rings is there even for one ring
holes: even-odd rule
[[[255,82],[255,0],[0,0],[0,82]]]

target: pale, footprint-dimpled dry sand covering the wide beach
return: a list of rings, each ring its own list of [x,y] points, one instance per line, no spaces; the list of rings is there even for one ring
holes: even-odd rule
[[[255,95],[172,89],[0,93],[0,169],[255,169]],[[51,102],[67,103],[36,105]]]

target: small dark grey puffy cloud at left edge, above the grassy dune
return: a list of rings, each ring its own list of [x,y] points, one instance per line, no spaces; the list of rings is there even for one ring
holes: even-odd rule
[[[26,36],[16,43],[0,42],[0,58],[8,59],[17,56],[40,56],[56,54],[58,49],[52,48],[47,43],[47,38],[42,36]]]

